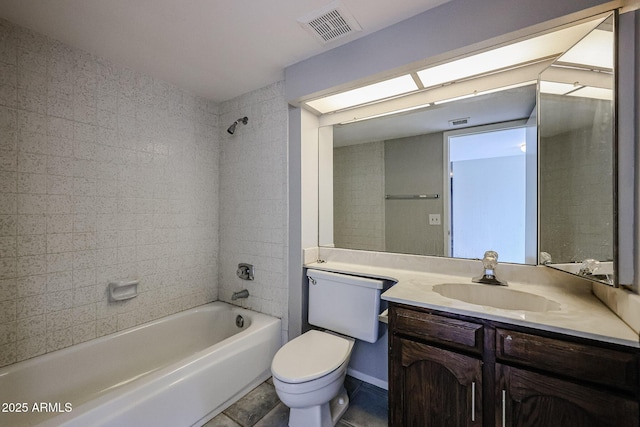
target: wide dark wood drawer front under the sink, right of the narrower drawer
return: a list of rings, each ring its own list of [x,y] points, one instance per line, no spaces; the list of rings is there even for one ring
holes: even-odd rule
[[[638,388],[638,355],[496,329],[496,359],[627,390]]]

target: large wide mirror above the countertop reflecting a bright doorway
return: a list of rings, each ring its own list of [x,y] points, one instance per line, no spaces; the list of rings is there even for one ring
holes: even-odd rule
[[[535,157],[528,165],[533,170],[533,215],[528,221],[533,250],[526,260],[525,199],[520,197],[521,209],[514,214],[511,196],[526,193],[522,149],[535,105],[532,82],[322,129],[333,138],[333,233],[323,243],[457,258],[481,257],[495,249],[502,262],[535,264]],[[470,150],[469,144],[486,145]],[[535,137],[529,145],[535,147]],[[504,185],[513,172],[520,186]],[[522,239],[518,254],[511,256],[514,234]]]

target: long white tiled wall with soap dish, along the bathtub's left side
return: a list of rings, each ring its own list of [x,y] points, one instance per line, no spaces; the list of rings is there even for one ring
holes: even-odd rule
[[[216,298],[217,114],[0,20],[0,366]],[[140,295],[108,303],[129,278]]]

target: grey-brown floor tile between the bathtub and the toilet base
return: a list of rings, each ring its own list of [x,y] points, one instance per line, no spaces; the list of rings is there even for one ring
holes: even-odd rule
[[[280,403],[272,385],[262,383],[223,413],[242,427],[252,427]]]

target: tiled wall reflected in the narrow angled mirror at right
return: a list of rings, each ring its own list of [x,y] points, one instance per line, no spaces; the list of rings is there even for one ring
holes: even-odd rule
[[[575,127],[540,135],[540,250],[551,254],[554,263],[611,261],[611,101],[545,95],[541,102],[554,104],[554,111],[572,112],[562,119]],[[580,108],[572,108],[576,103]],[[580,124],[585,117],[586,126]]]

